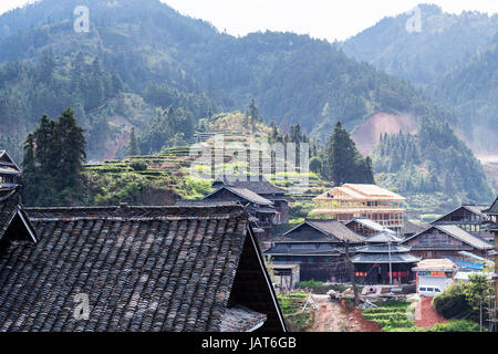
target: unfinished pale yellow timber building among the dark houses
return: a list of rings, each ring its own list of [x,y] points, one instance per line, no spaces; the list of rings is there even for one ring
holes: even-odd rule
[[[403,202],[405,198],[375,185],[345,184],[313,199],[313,210],[321,219],[350,221],[369,218],[385,227],[404,226]]]

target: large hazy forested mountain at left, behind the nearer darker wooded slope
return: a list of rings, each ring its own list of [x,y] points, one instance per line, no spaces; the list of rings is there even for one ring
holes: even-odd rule
[[[82,4],[90,9],[86,34],[72,30],[73,9]],[[353,129],[381,111],[456,119],[406,82],[326,41],[276,32],[237,39],[158,0],[44,0],[3,14],[0,29],[0,62],[35,60],[48,48],[64,58],[81,51],[98,56],[141,96],[160,83],[206,96],[214,111],[242,110],[255,97],[268,121],[299,122],[322,140],[336,121]],[[154,105],[170,103],[164,101]],[[196,114],[206,114],[206,105]]]

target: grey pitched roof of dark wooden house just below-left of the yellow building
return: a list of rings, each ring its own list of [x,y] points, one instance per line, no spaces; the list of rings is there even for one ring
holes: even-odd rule
[[[344,226],[344,223],[339,222],[336,220],[307,220],[294,227],[293,229],[287,231],[281,237],[276,238],[276,241],[283,241],[283,240],[307,240],[310,241],[315,240],[315,237],[307,237],[302,235],[293,235],[293,231],[301,228],[303,225],[309,225],[313,229],[315,229],[318,232],[323,235],[322,241],[331,241],[336,242],[339,241],[350,241],[352,243],[360,243],[364,242],[364,238],[356,232],[352,231],[347,227]]]

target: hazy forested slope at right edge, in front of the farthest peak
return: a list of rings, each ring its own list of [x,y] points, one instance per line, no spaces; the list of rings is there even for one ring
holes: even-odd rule
[[[498,153],[498,33],[487,51],[442,77],[432,93],[456,108],[475,150]]]

